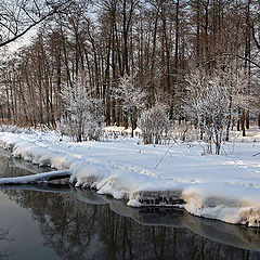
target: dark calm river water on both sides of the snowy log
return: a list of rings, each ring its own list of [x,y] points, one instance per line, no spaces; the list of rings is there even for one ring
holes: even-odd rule
[[[0,177],[42,171],[0,150]],[[0,186],[0,259],[260,259],[260,229],[66,185]]]

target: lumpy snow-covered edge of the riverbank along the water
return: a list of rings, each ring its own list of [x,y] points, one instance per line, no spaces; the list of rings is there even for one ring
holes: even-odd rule
[[[158,185],[157,188],[153,188],[152,185],[152,187],[147,186],[146,190],[135,190],[131,193],[123,188],[118,188],[115,191],[113,188],[113,185],[115,186],[115,183],[117,184],[117,182],[120,182],[120,178],[125,178],[123,174],[119,177],[117,176],[116,178],[113,176],[103,176],[99,172],[99,167],[98,169],[96,167],[91,169],[89,165],[88,173],[86,174],[86,169],[83,168],[82,161],[80,161],[80,159],[72,159],[56,153],[57,157],[60,157],[57,159],[55,158],[55,156],[52,157],[52,155],[47,155],[46,153],[48,151],[46,151],[44,147],[37,147],[36,143],[34,142],[29,143],[28,141],[18,139],[18,134],[11,134],[11,138],[8,135],[10,134],[0,134],[0,144],[2,147],[11,150],[14,157],[20,157],[24,160],[31,161],[32,164],[37,164],[40,167],[51,166],[52,168],[56,168],[57,170],[69,169],[69,171],[72,172],[70,182],[75,186],[82,188],[95,188],[99,194],[110,195],[116,199],[125,199],[128,206],[181,207],[184,208],[187,212],[197,217],[221,220],[223,222],[232,224],[245,224],[249,226],[260,225],[260,207],[250,205],[248,204],[248,202],[243,202],[240,204],[240,202],[225,198],[222,199],[221,207],[218,204],[212,204],[212,202],[214,199],[218,200],[219,197],[211,196],[208,199],[204,198],[204,202],[202,202],[202,199],[199,199],[199,194],[196,193],[196,185],[192,185],[187,188],[185,185],[176,185],[176,188],[173,190],[172,184],[168,185],[167,183],[162,183],[162,185]],[[37,154],[34,154],[34,151],[30,151],[31,147],[28,148],[28,146],[30,145],[35,146],[35,148],[38,150]],[[25,150],[25,147],[27,148],[26,152],[23,151]],[[212,205],[208,205],[209,203],[211,203]],[[210,214],[210,212],[207,213],[208,208],[213,211],[222,210],[222,212],[225,212],[226,209],[230,211],[230,209],[232,208],[231,205],[233,204],[235,204],[239,209],[238,212],[230,212],[230,214],[237,214],[235,216],[235,221],[234,219],[229,219],[230,216],[227,216],[227,219],[221,219],[218,218],[218,216],[214,216],[212,213]],[[205,205],[208,207],[206,208]],[[206,213],[203,212],[204,209],[206,209]]]

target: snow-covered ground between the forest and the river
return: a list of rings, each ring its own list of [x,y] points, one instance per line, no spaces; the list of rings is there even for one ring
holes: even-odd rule
[[[229,223],[260,225],[260,132],[236,138],[222,155],[204,144],[141,145],[138,138],[73,143],[55,133],[1,132],[0,142],[25,160],[69,169],[76,186],[126,199],[128,206],[185,202],[188,212]],[[167,153],[164,160],[160,159]]]

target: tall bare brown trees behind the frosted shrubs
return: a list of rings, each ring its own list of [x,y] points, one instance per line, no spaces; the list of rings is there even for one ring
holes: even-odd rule
[[[191,119],[183,109],[194,93],[187,77],[233,66],[248,77],[240,94],[252,99],[237,104],[237,128],[258,117],[260,126],[259,23],[257,0],[74,1],[1,61],[2,120],[55,127],[66,114],[61,94],[81,75],[82,88],[102,101],[106,125],[130,121],[115,98],[126,76],[147,94],[142,109],[161,103],[169,119]]]

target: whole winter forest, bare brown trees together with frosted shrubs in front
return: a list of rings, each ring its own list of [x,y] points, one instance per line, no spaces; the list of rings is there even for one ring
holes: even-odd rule
[[[1,120],[77,141],[139,126],[144,143],[188,125],[219,154],[231,129],[260,127],[259,11],[258,0],[2,1]]]

